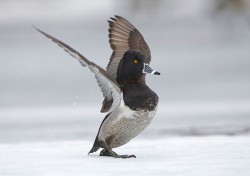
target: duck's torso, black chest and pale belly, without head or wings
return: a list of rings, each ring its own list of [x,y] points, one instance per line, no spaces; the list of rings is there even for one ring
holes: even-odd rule
[[[125,87],[129,88],[124,90],[121,104],[105,118],[97,134],[98,141],[106,141],[111,148],[120,147],[140,134],[157,109],[158,96],[144,83]]]

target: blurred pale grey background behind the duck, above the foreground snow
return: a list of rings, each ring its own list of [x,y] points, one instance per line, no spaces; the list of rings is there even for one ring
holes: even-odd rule
[[[32,25],[105,68],[112,53],[107,20],[114,15],[142,33],[151,66],[161,72],[147,76],[160,97],[150,125],[156,136],[250,132],[248,0],[0,0],[0,14],[0,142],[16,140],[28,126],[22,132],[32,133],[39,119],[46,120],[41,128],[55,119],[52,129],[78,137],[96,132],[104,114],[94,76]],[[85,120],[92,126],[83,132]],[[46,129],[41,134],[49,138]]]

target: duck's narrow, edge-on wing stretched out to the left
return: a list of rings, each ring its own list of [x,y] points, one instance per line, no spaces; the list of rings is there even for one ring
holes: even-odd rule
[[[40,33],[42,33],[43,35],[45,35],[46,37],[48,37],[49,39],[51,39],[53,42],[58,44],[58,46],[63,48],[72,57],[77,59],[82,64],[82,66],[88,67],[91,70],[91,72],[94,73],[98,86],[100,87],[103,93],[103,96],[105,97],[105,99],[107,99],[108,101],[112,103],[109,110],[106,112],[110,113],[116,107],[120,105],[121,100],[122,100],[122,91],[119,85],[117,84],[116,80],[112,76],[110,76],[103,68],[89,61],[83,55],[81,55],[78,51],[71,48],[67,44],[56,39],[55,37],[52,37],[49,34],[46,34],[45,32],[37,29],[36,27],[34,28]]]

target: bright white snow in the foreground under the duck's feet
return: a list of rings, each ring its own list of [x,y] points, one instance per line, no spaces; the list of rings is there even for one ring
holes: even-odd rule
[[[117,148],[137,158],[87,155],[92,141],[0,144],[0,175],[240,175],[250,174],[249,136],[137,139]]]

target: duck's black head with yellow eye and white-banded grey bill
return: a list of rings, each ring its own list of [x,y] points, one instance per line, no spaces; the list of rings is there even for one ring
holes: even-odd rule
[[[140,52],[126,51],[118,67],[118,82],[138,80],[146,73],[160,75],[149,66]]]

